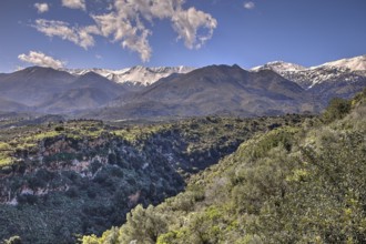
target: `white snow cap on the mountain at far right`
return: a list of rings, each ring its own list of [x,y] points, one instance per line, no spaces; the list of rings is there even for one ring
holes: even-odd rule
[[[276,61],[255,67],[251,71],[257,72],[266,69],[273,70],[287,80],[296,82],[303,89],[308,90],[315,85],[324,85],[329,82],[333,85],[336,82],[364,82],[366,78],[366,55],[342,59],[311,68]]]

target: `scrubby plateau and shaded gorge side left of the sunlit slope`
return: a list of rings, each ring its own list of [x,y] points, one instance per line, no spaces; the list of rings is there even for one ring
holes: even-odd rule
[[[182,192],[193,173],[256,133],[302,124],[305,116],[141,125],[54,119],[2,121],[0,240],[74,243],[77,234],[101,235],[135,205]]]

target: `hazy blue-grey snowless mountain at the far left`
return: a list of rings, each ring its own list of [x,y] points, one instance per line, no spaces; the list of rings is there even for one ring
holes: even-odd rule
[[[41,67],[3,75],[0,78],[0,90],[1,99],[23,106],[27,104],[28,111],[45,113],[94,109],[124,93],[120,84],[93,72],[74,77]],[[18,106],[3,110],[21,111]]]

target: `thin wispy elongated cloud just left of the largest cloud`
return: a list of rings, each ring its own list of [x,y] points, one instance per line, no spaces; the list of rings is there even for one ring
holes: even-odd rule
[[[59,37],[63,40],[71,41],[85,50],[93,47],[95,43],[92,34],[100,33],[95,26],[80,28],[70,27],[68,22],[55,20],[38,19],[35,20],[35,26],[33,27],[50,38]]]

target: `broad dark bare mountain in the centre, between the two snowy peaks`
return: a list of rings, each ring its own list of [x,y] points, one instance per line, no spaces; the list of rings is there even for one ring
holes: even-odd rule
[[[273,71],[248,72],[238,65],[210,65],[164,82],[156,82],[114,108],[87,116],[125,119],[301,112],[305,91]],[[272,111],[272,112],[271,112]],[[145,114],[144,114],[145,113]]]

